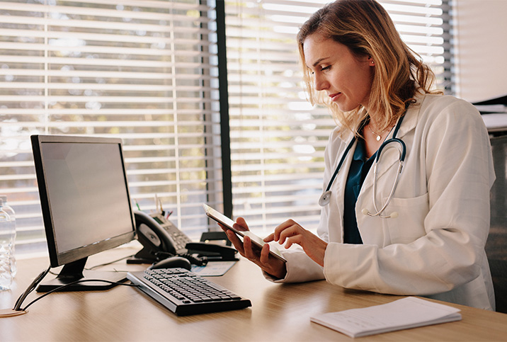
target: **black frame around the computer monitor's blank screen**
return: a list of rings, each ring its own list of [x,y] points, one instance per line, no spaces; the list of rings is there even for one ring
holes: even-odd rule
[[[47,249],[50,256],[51,267],[63,266],[67,263],[73,263],[80,259],[87,258],[93,254],[113,249],[122,244],[135,239],[135,217],[132,210],[132,201],[130,199],[130,190],[127,182],[127,172],[125,168],[125,160],[123,158],[123,142],[120,138],[114,137],[89,137],[89,136],[73,136],[73,135],[32,135],[31,137],[33,149],[33,161],[35,164],[35,174],[37,177],[40,207],[42,210],[42,220],[45,227],[45,235],[47,240]],[[67,251],[59,251],[55,238],[55,226],[53,224],[51,202],[47,193],[47,180],[45,177],[44,161],[42,160],[42,144],[44,143],[77,143],[77,144],[117,144],[120,152],[120,160],[123,169],[123,179],[125,189],[127,191],[128,207],[130,211],[130,221],[132,230],[118,236],[111,236],[110,239],[97,241],[96,244],[80,246],[76,249]]]

